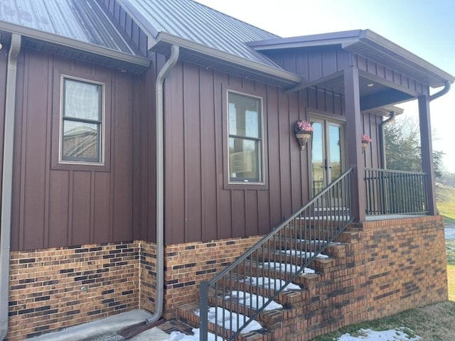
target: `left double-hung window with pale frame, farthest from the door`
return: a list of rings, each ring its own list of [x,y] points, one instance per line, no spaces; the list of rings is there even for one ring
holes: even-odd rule
[[[63,77],[60,161],[103,163],[103,85]]]

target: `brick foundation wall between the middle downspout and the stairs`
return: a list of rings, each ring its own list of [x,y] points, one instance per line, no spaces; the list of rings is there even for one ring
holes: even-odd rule
[[[260,238],[223,239],[166,246],[164,316],[172,317],[179,305],[194,302],[201,281],[213,278]]]

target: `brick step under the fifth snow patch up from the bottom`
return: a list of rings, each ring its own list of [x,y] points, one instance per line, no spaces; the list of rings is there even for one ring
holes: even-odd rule
[[[285,253],[286,251],[286,253]],[[275,261],[279,263],[294,264],[296,266],[304,266],[307,261],[310,260],[311,256],[314,256],[316,252],[306,252],[297,250],[264,250],[253,253],[250,256],[250,260],[253,263],[257,261]],[[336,260],[333,258],[322,258],[315,257],[309,263],[311,269],[317,269],[317,272],[326,273],[328,269],[336,264]]]

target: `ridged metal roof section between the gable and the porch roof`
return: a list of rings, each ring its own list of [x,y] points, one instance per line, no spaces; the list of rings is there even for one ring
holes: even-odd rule
[[[166,32],[257,63],[278,67],[247,45],[278,36],[192,0],[121,0],[150,34]],[[154,34],[156,38],[157,34]],[[281,68],[281,67],[278,67]]]

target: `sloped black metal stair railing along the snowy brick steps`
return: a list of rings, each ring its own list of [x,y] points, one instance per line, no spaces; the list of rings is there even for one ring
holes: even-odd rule
[[[209,323],[216,336],[235,340],[346,228],[353,220],[351,173],[343,173],[211,281],[200,283],[200,341],[207,341]]]

